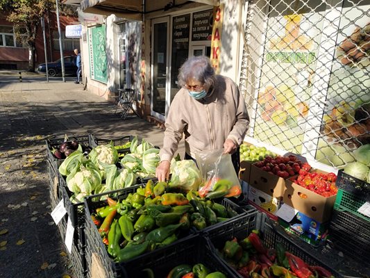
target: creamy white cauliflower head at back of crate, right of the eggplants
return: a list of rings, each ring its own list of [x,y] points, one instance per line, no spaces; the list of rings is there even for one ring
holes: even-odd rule
[[[89,154],[89,158],[100,169],[104,168],[103,163],[115,164],[118,162],[118,152],[112,141],[108,145],[94,147]]]

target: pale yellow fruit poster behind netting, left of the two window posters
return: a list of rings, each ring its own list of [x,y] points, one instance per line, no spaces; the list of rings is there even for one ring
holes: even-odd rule
[[[297,1],[291,2],[294,6]],[[310,2],[311,6],[319,6],[319,1]],[[279,1],[271,1],[271,6],[275,8],[267,21],[254,137],[300,153],[308,123],[323,12],[296,6],[294,10],[299,13],[294,13]]]

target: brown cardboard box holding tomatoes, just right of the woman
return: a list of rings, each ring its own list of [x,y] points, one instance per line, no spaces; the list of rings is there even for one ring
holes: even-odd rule
[[[285,179],[262,171],[259,167],[252,164],[249,184],[270,196],[282,199],[285,189]]]

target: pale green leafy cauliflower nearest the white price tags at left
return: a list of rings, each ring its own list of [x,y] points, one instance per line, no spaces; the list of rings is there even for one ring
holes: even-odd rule
[[[73,193],[91,195],[92,191],[101,184],[101,175],[90,161],[84,164],[67,176],[67,187]]]

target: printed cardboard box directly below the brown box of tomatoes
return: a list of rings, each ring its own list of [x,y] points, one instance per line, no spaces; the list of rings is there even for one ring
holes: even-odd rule
[[[271,195],[264,193],[253,186],[249,186],[249,193],[248,193],[249,201],[253,202],[253,204],[260,206],[264,211],[275,215],[280,207],[280,199],[276,197],[272,197]]]

